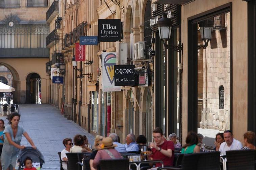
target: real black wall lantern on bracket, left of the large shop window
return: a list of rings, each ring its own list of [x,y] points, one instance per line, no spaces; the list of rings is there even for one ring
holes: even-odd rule
[[[167,41],[170,40],[171,38],[171,32],[172,32],[172,20],[167,18],[167,13],[162,14],[162,18],[157,21],[157,27],[159,31],[159,37],[160,39],[163,40],[163,45],[165,46],[166,49],[169,47],[172,47],[173,50],[176,52],[182,52],[183,51],[183,43],[181,44],[167,44]]]

